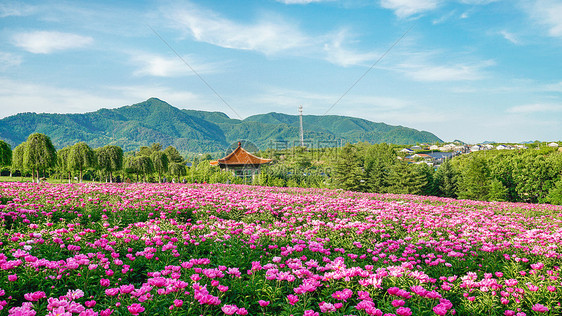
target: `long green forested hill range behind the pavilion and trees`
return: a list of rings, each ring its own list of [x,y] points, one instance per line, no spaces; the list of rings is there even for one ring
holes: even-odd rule
[[[312,142],[344,140],[370,143],[416,144],[441,141],[429,132],[374,123],[346,116],[303,117],[305,139]],[[91,147],[108,144],[123,150],[160,143],[181,152],[223,151],[241,139],[264,149],[279,141],[299,139],[296,115],[268,113],[244,120],[221,112],[180,110],[156,98],[116,109],[84,114],[20,113],[0,120],[0,138],[14,147],[31,133],[51,137],[57,148],[85,141]]]

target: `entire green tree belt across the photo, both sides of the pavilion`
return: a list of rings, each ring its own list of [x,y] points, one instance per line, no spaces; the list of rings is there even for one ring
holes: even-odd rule
[[[0,141],[0,167],[32,176],[60,179],[246,183],[266,186],[341,188],[358,192],[432,195],[488,201],[562,204],[562,153],[543,147],[489,150],[446,160],[438,168],[407,163],[390,144],[357,143],[339,148],[268,149],[272,158],[255,177],[237,177],[211,166],[200,155],[186,166],[176,148],[160,144],[123,153],[114,145],[92,149],[86,143],[55,150],[49,137],[32,134],[13,151]]]

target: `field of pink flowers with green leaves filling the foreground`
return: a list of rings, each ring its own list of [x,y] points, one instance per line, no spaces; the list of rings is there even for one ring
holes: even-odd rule
[[[561,315],[562,207],[0,183],[2,315]]]

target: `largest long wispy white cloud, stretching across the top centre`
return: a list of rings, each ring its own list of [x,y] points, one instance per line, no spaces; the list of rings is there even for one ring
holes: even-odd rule
[[[376,57],[345,47],[353,37],[348,30],[311,35],[301,31],[297,23],[271,14],[242,23],[191,4],[165,10],[165,16],[170,16],[175,25],[187,30],[195,40],[224,48],[322,58],[340,66],[362,65]]]

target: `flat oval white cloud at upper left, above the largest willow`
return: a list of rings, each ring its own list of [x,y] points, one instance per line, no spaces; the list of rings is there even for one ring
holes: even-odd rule
[[[34,54],[49,54],[55,51],[80,48],[94,41],[89,36],[54,31],[18,33],[13,37],[15,46]]]

